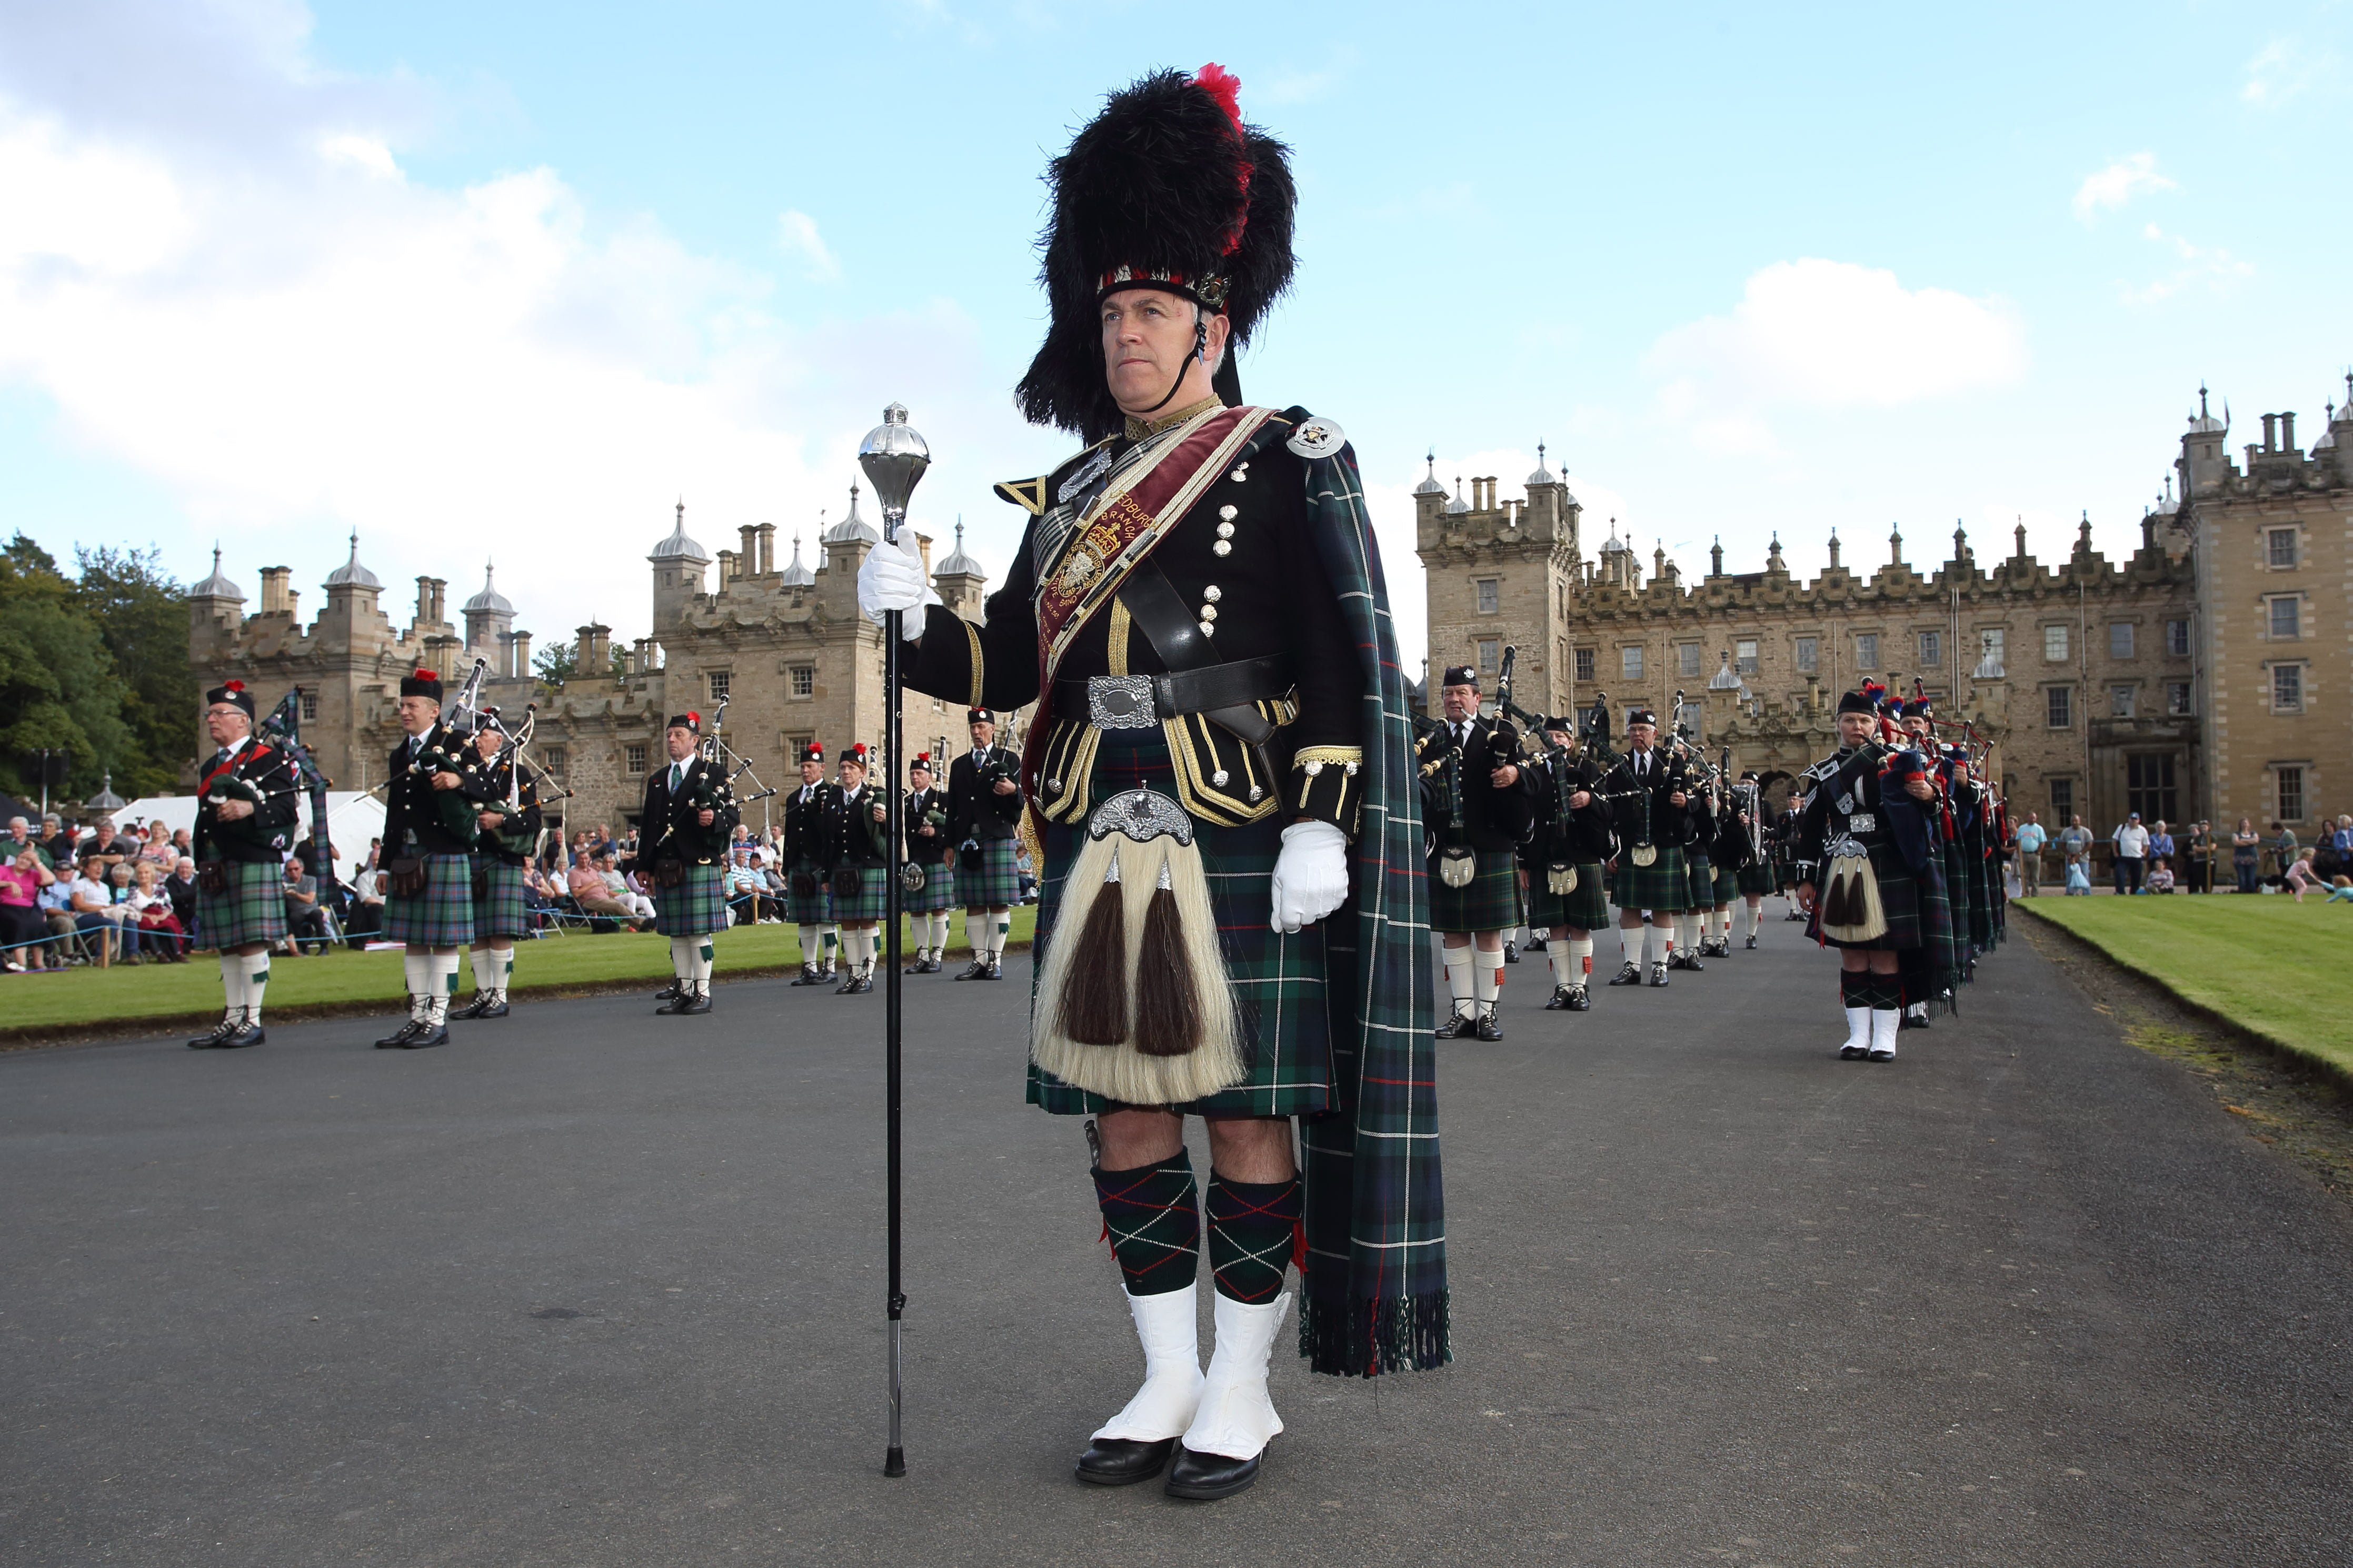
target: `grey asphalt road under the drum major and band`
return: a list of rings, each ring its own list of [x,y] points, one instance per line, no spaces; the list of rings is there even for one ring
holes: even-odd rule
[[[2344,1563],[2346,1208],[2024,943],[1833,1060],[1795,931],[1581,1018],[1508,971],[1440,1058],[1457,1363],[1285,1349],[1219,1505],[1068,1476],[1139,1359],[1021,959],[908,983],[901,1481],[880,997],[0,1056],[0,1559]]]

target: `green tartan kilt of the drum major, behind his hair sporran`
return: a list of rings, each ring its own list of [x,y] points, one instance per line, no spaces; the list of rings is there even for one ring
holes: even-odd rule
[[[1106,731],[1094,755],[1087,799],[1111,799],[1122,790],[1155,788],[1176,795],[1160,726]],[[1193,820],[1209,903],[1217,910],[1226,983],[1242,1004],[1242,1060],[1249,1079],[1174,1110],[1195,1117],[1304,1117],[1332,1110],[1332,1025],[1325,1013],[1325,931],[1353,931],[1355,905],[1315,922],[1297,936],[1268,929],[1275,856],[1282,849],[1282,813],[1242,827]],[[1054,938],[1061,884],[1085,844],[1078,827],[1045,823],[1045,877],[1038,884],[1038,943],[1031,976],[1045,971],[1045,945]],[[1031,1006],[1038,1006],[1035,992]],[[1028,1103],[1056,1117],[1101,1114],[1111,1100],[1075,1088],[1031,1065]]]

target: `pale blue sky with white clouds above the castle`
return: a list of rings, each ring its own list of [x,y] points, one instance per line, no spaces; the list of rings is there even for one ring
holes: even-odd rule
[[[920,527],[1000,564],[988,482],[1038,174],[1099,96],[1217,59],[1301,186],[1242,364],[1405,494],[1534,465],[1687,571],[1817,569],[2078,510],[2137,538],[2200,378],[2344,400],[2344,5],[1275,7],[0,0],[0,527],[219,536],[304,604],[485,555],[541,639],[642,632],[642,555],[840,515],[899,397]],[[1245,19],[1247,16],[1247,19]]]

